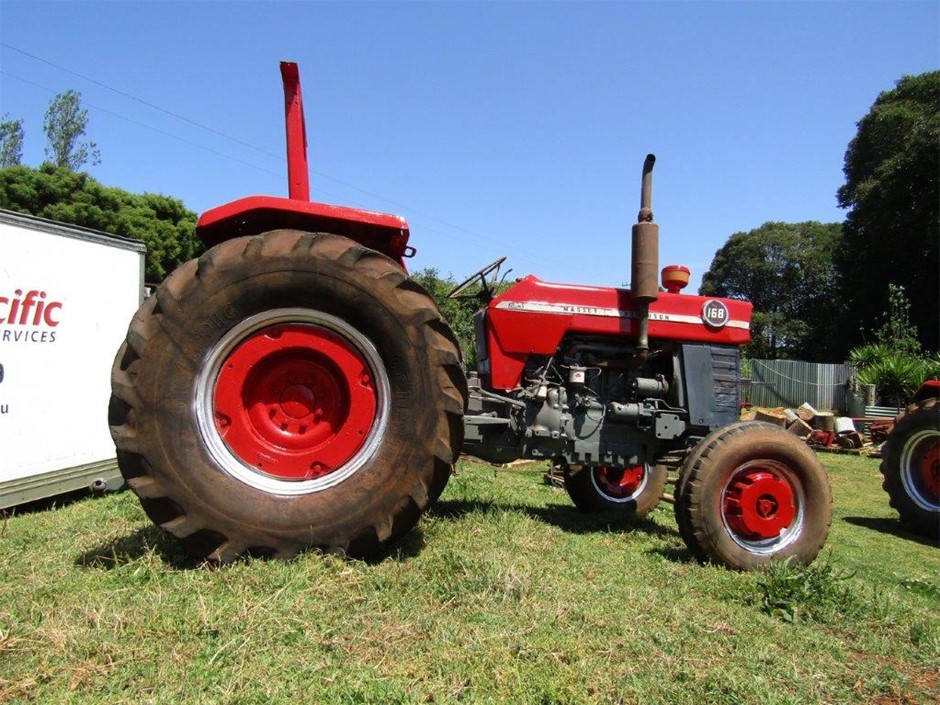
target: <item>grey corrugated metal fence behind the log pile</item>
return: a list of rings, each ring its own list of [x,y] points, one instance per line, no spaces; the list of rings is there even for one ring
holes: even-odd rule
[[[849,406],[846,382],[852,365],[827,365],[799,360],[742,361],[744,377],[741,396],[763,407],[795,408],[809,402],[819,411],[845,411]]]

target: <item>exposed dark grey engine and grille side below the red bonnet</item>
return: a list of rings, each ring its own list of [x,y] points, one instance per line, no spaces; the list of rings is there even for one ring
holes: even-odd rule
[[[738,416],[737,346],[654,342],[637,366],[629,341],[572,333],[533,355],[518,388],[496,393],[471,373],[464,450],[505,463],[646,466]]]

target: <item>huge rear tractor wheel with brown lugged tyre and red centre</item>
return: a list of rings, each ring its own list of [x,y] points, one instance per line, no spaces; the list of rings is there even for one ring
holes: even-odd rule
[[[466,382],[427,293],[336,235],[212,248],[131,322],[112,368],[121,472],[197,555],[367,556],[460,452]]]

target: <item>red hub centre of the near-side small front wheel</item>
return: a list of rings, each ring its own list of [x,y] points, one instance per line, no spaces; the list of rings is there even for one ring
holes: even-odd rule
[[[797,516],[797,496],[790,481],[771,467],[740,469],[722,499],[728,527],[747,541],[778,538]]]

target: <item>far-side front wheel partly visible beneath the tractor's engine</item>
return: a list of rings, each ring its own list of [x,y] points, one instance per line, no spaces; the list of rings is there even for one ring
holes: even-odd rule
[[[659,465],[575,466],[565,471],[565,490],[582,512],[616,511],[643,517],[659,504],[666,476],[666,469]]]

